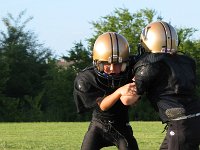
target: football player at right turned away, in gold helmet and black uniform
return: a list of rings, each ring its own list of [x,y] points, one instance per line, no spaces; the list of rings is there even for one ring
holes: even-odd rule
[[[161,150],[199,150],[200,101],[195,96],[195,61],[177,50],[174,27],[164,21],[147,25],[140,38],[144,54],[134,65],[138,95],[146,94],[166,123],[167,134]],[[125,105],[134,96],[122,96]]]

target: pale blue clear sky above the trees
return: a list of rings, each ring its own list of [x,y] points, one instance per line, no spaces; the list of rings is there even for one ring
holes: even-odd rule
[[[0,19],[11,13],[15,18],[26,10],[24,19],[45,47],[55,55],[67,54],[74,42],[92,37],[91,21],[113,13],[115,8],[127,8],[131,13],[140,9],[155,9],[166,22],[178,27],[200,30],[200,0],[0,0]],[[0,30],[5,30],[0,21]],[[200,39],[200,31],[195,38]],[[85,43],[84,43],[85,44]]]

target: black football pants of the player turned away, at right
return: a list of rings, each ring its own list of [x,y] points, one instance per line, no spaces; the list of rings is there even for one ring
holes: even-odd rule
[[[200,116],[171,121],[160,150],[200,150]]]

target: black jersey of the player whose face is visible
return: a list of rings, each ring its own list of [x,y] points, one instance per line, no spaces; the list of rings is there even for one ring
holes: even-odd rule
[[[129,78],[131,80],[132,75],[129,75]],[[95,118],[128,122],[128,106],[123,105],[120,100],[107,111],[102,111],[99,108],[97,100],[102,100],[116,90],[101,84],[103,82],[99,82],[99,80],[102,79],[99,79],[94,67],[86,68],[77,75],[74,82],[77,112],[82,113],[92,109]],[[130,80],[128,79],[127,83]]]

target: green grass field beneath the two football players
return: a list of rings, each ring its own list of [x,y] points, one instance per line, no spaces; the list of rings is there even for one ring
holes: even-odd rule
[[[0,123],[0,150],[80,150],[89,122]],[[131,122],[140,150],[158,150],[161,122]],[[103,150],[116,150],[116,147]]]

